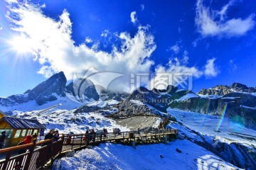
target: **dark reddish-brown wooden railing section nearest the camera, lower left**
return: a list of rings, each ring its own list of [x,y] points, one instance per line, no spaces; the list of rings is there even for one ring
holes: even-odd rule
[[[45,146],[41,147],[43,144]],[[57,156],[62,151],[62,147],[63,140],[58,142],[53,142],[53,140],[36,142],[34,140],[31,144],[0,149],[0,154],[6,154],[5,159],[0,161],[0,169],[40,169],[46,162]],[[17,154],[19,149],[24,149],[25,153]]]

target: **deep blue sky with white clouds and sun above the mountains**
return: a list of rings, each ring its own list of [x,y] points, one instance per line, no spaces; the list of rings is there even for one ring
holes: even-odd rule
[[[193,74],[193,91],[256,86],[256,4],[247,1],[0,1],[0,96],[63,71]],[[107,81],[105,74],[97,83]],[[142,81],[149,86],[150,77]]]

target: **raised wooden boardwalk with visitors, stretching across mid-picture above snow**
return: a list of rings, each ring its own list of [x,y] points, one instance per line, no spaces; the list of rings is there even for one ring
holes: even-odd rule
[[[139,131],[139,132],[110,132],[107,137],[102,134],[77,134],[68,135],[63,134],[64,144],[63,151],[70,149],[85,148],[87,145],[99,145],[103,142],[121,143],[130,145],[131,142],[136,144],[150,144],[158,142],[167,142],[176,138],[178,130],[152,130],[152,131]]]

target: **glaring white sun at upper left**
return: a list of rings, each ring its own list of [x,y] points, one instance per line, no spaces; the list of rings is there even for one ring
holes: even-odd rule
[[[12,40],[9,41],[12,50],[18,52],[19,54],[23,54],[26,52],[30,52],[32,50],[31,41],[29,38],[26,38],[24,35],[19,35]]]

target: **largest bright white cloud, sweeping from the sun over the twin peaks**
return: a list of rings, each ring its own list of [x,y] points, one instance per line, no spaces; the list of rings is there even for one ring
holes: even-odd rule
[[[154,36],[147,33],[148,27],[139,26],[133,37],[127,32],[116,33],[121,45],[113,45],[111,52],[105,52],[97,43],[92,47],[85,43],[75,45],[71,37],[72,23],[66,10],[57,20],[44,16],[38,6],[31,4],[10,8],[10,14],[18,16],[18,20],[10,16],[16,25],[14,30],[27,35],[33,44],[35,60],[41,64],[38,73],[46,77],[63,71],[67,79],[72,80],[73,74],[83,76],[85,70],[94,67],[101,72],[124,74],[122,79],[113,82],[112,89],[129,91],[130,74],[150,72],[154,64],[150,57],[156,45]],[[101,81],[107,79],[109,77],[100,77]]]

